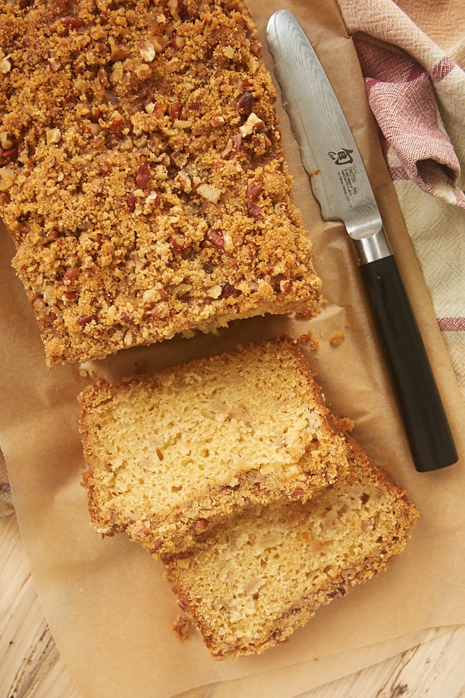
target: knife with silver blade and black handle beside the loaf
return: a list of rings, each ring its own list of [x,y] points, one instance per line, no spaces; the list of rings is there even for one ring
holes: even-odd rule
[[[274,13],[267,40],[321,215],[342,221],[353,242],[413,464],[422,473],[450,466],[458,456],[448,419],[342,107],[294,15]]]

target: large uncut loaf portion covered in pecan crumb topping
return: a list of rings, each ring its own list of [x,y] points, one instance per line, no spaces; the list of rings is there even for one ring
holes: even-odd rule
[[[0,216],[47,363],[319,312],[241,0],[5,1]]]

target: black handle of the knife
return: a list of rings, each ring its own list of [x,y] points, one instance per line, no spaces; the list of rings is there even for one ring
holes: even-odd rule
[[[416,470],[450,466],[457,450],[394,255],[359,266]]]

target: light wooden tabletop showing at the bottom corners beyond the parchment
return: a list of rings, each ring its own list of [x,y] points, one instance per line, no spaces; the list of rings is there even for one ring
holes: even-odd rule
[[[45,621],[15,514],[0,518],[0,569],[0,698],[82,698]],[[459,626],[298,698],[461,698],[464,660]]]

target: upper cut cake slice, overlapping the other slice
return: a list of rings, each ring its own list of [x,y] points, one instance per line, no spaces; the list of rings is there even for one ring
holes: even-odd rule
[[[305,500],[346,468],[344,438],[286,336],[79,399],[91,521],[157,556],[243,507]]]

